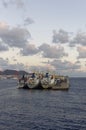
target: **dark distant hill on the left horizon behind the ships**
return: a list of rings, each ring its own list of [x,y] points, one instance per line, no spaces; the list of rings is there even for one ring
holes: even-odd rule
[[[26,71],[24,70],[20,70],[20,71],[17,71],[17,70],[4,70],[4,71],[0,71],[0,74],[1,75],[23,75],[23,74],[28,74]]]

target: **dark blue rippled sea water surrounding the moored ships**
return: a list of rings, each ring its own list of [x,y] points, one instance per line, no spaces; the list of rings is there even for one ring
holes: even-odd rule
[[[68,91],[17,89],[0,80],[0,130],[86,130],[86,78]]]

